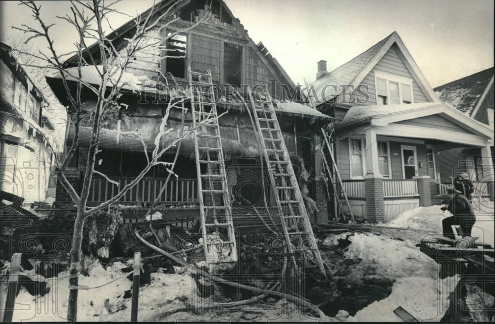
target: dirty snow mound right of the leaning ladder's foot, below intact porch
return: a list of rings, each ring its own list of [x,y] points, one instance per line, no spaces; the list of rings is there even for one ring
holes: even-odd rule
[[[362,259],[362,263],[376,267],[376,273],[386,278],[420,276],[436,278],[437,264],[419,251],[411,241],[399,241],[373,234],[355,233],[344,256]]]

